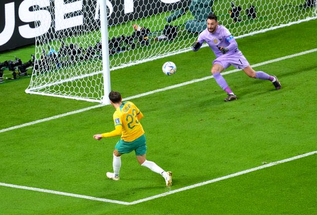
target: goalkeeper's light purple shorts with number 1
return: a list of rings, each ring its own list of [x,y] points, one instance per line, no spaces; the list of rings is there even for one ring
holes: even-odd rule
[[[221,55],[212,62],[212,65],[214,64],[220,64],[224,70],[230,67],[230,65],[240,70],[250,66],[249,62],[240,51],[233,54],[228,53]]]

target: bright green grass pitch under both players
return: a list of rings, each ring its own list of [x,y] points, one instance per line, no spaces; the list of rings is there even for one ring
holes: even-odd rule
[[[255,65],[316,49],[316,26],[312,20],[237,42]],[[0,62],[28,60],[33,48],[1,54]],[[213,59],[203,48],[112,71],[111,88],[126,98],[206,77]],[[111,106],[1,132],[0,183],[134,202],[316,151],[316,59],[312,52],[255,68],[277,75],[281,90],[242,71],[226,74],[239,97],[229,103],[214,79],[132,99],[144,114],[147,158],[173,171],[170,189],[133,153],[122,156],[120,181],[106,179],[118,137],[93,135],[113,129]],[[176,74],[161,72],[166,61]],[[25,94],[29,80],[0,84],[1,131],[97,105]],[[316,215],[316,183],[314,154],[134,205],[0,186],[0,215]]]

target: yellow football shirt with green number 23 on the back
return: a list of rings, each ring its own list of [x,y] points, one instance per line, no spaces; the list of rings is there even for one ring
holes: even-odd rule
[[[144,134],[140,119],[143,114],[132,102],[122,102],[113,113],[114,126],[122,126],[121,139],[131,142]]]

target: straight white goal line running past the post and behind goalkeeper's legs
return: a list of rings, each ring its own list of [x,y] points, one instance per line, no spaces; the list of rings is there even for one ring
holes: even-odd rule
[[[273,60],[270,60],[270,61],[265,61],[265,62],[262,62],[262,63],[259,63],[259,64],[252,65],[252,67],[253,68],[260,67],[260,66],[263,66],[263,65],[266,65],[266,64],[270,64],[270,63],[274,63],[274,62],[278,62],[278,61],[283,61],[285,59],[294,58],[294,57],[298,57],[298,56],[301,56],[301,55],[306,55],[306,54],[313,53],[313,52],[316,52],[316,51],[317,51],[317,49],[312,49],[312,50],[308,50],[308,51],[305,51],[305,52],[300,52],[300,53],[297,53],[297,54],[288,55],[288,56],[281,57],[281,58],[276,58],[276,59],[273,59]],[[237,72],[237,71],[240,71],[240,70],[237,70],[237,69],[236,70],[231,70],[231,71],[228,71],[228,72],[222,72],[221,74],[225,75],[225,74],[230,74],[230,73]],[[203,78],[199,78],[199,79],[186,81],[186,82],[179,83],[179,84],[175,84],[175,85],[172,85],[172,86],[168,86],[168,87],[152,90],[152,91],[141,93],[141,94],[138,94],[138,95],[130,96],[130,97],[124,98],[122,100],[126,101],[126,100],[130,100],[130,99],[134,99],[134,98],[140,98],[142,96],[147,96],[147,95],[150,95],[150,94],[153,94],[153,93],[165,91],[165,90],[168,90],[168,89],[173,89],[173,88],[180,87],[180,86],[185,86],[185,85],[188,85],[188,84],[200,82],[200,81],[211,79],[211,78],[213,78],[212,75],[206,76],[206,77],[203,77]],[[18,126],[13,126],[13,127],[9,127],[9,128],[6,128],[6,129],[1,129],[0,133],[11,131],[11,130],[14,130],[14,129],[23,128],[23,127],[26,127],[26,126],[31,126],[31,125],[34,125],[34,124],[37,124],[37,123],[50,121],[50,120],[61,118],[61,117],[64,117],[64,116],[69,116],[69,115],[72,115],[72,114],[81,113],[81,112],[84,112],[84,111],[87,111],[87,110],[91,110],[91,109],[94,109],[94,108],[99,108],[99,107],[102,107],[102,106],[105,106],[105,105],[104,104],[99,104],[99,105],[91,106],[91,107],[88,107],[88,108],[84,108],[84,109],[80,109],[80,110],[76,110],[76,111],[71,111],[71,112],[68,112],[68,113],[65,113],[65,114],[60,114],[60,115],[56,115],[56,116],[53,116],[53,117],[48,117],[48,118],[45,118],[45,119],[42,119],[42,120],[36,120],[36,121],[33,121],[33,122],[21,124],[21,125],[18,125]]]

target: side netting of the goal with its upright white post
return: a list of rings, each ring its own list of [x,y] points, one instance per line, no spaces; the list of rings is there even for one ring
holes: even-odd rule
[[[106,0],[98,0],[103,5],[98,19],[96,4],[96,0],[95,4],[91,0],[33,0],[38,36],[27,93],[109,104]],[[41,32],[43,28],[48,29],[46,33]]]

